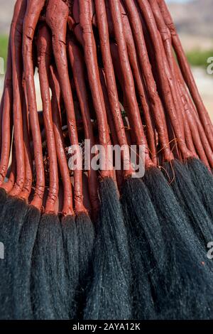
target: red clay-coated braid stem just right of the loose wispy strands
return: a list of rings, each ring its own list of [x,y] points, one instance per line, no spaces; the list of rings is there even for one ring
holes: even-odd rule
[[[155,23],[155,18],[153,16],[151,6],[148,4],[147,0],[143,1],[138,0],[138,5],[141,9],[141,13],[143,14],[144,21],[146,22],[151,41],[153,43],[153,49],[155,51],[156,65],[157,65],[156,68],[158,70],[160,85],[163,91],[163,99],[165,101],[167,112],[170,116],[171,124],[175,131],[175,136],[178,139],[178,146],[180,148],[183,158],[190,158],[192,157],[192,153],[187,149],[187,146],[185,144],[185,139],[184,137],[182,137],[181,126],[178,122],[178,117],[173,103],[173,96],[170,92],[168,73],[165,72],[166,64],[163,61],[163,59],[165,59],[163,58],[164,57],[163,43],[159,36],[158,28]]]

